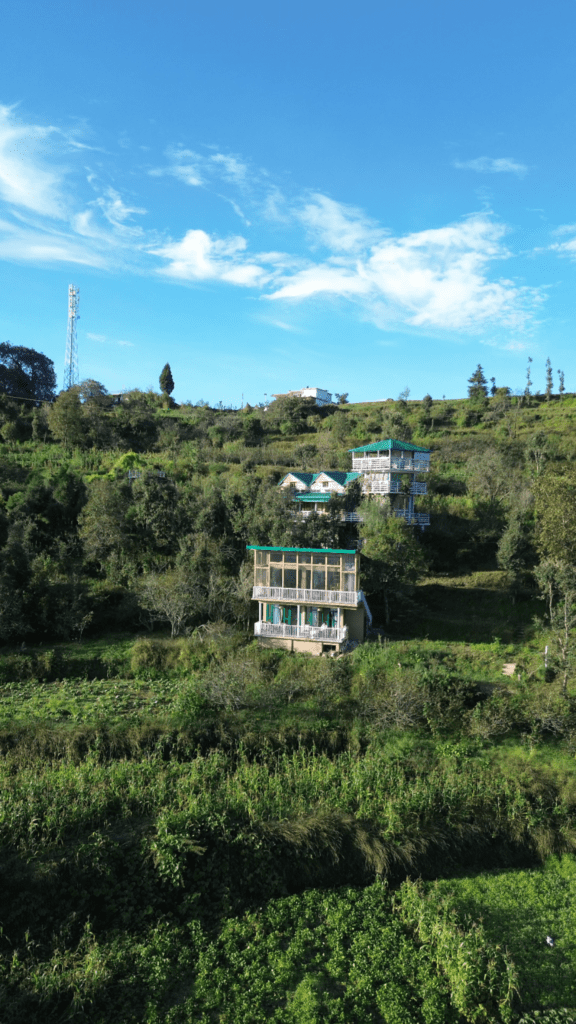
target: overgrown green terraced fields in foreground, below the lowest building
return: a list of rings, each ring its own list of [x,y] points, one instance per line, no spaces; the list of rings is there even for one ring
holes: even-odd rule
[[[3,1024],[576,1020],[573,725],[540,648],[5,648]]]

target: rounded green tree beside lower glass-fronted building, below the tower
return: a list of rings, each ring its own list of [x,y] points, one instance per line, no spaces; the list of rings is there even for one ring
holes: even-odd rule
[[[383,506],[370,499],[365,499],[358,511],[363,518],[359,534],[367,559],[366,574],[370,586],[382,595],[387,626],[390,595],[416,583],[425,571],[426,558],[404,519],[388,515]]]

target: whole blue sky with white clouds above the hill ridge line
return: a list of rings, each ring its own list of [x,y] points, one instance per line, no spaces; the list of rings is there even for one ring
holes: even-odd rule
[[[0,340],[252,404],[576,390],[572,2],[3,11]],[[558,379],[558,378],[557,378]]]

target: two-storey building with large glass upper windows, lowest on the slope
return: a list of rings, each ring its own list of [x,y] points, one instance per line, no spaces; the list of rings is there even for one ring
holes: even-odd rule
[[[372,615],[360,590],[360,555],[352,550],[274,548],[254,552],[254,636],[269,647],[337,653],[364,640]]]

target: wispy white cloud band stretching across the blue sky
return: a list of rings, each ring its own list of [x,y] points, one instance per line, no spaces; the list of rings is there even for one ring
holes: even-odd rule
[[[264,171],[252,172],[238,156],[208,155],[174,146],[168,164],[152,169],[153,177],[170,175],[194,187],[208,188],[230,203],[251,227],[298,232],[296,253],[251,253],[244,234],[224,237],[192,224],[180,238],[140,226],[147,210],[108,181],[100,165],[83,168],[82,185],[93,198],[80,199],[70,186],[70,167],[48,159],[48,146],[76,155],[60,129],[17,121],[13,109],[0,109],[0,258],[37,264],[84,264],[111,270],[155,274],[191,284],[222,283],[251,289],[277,306],[313,297],[354,304],[360,316],[386,330],[478,333],[487,325],[525,330],[543,300],[543,290],[529,289],[494,275],[495,263],[510,256],[503,244],[505,228],[489,213],[453,224],[394,236],[359,208],[314,191],[288,200]],[[59,151],[54,139],[59,140]],[[465,165],[490,173],[521,173],[508,158],[479,158]],[[87,172],[87,176],[86,176]],[[105,179],[106,180],[106,179]],[[108,178],[110,180],[110,177]],[[237,189],[242,206],[222,182]],[[215,184],[214,184],[215,182]],[[95,197],[95,198],[94,198]],[[564,241],[552,248],[576,256],[576,239],[567,225]],[[307,252],[303,251],[303,238]],[[270,307],[269,307],[270,308]],[[294,330],[290,317],[276,317],[281,330]],[[98,341],[98,338],[93,340]],[[112,342],[111,342],[112,343]],[[116,341],[114,344],[131,344]]]

